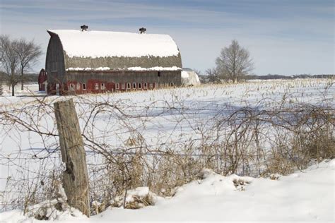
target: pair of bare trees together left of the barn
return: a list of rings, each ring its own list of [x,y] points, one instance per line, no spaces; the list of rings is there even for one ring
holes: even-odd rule
[[[0,35],[0,71],[6,75],[1,76],[3,81],[11,86],[11,95],[15,95],[15,86],[25,83],[25,74],[32,68],[42,55],[41,47],[34,40],[11,40],[8,35]],[[1,88],[1,87],[0,87]]]

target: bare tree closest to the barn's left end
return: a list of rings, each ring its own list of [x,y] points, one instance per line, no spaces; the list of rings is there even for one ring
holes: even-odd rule
[[[20,81],[21,90],[23,90],[24,77],[23,74],[26,69],[30,68],[42,54],[41,47],[35,44],[33,40],[27,41],[25,39],[18,40],[16,47],[16,54],[18,54],[20,67]]]

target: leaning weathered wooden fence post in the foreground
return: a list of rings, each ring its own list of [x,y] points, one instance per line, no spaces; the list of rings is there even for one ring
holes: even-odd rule
[[[61,160],[66,164],[63,187],[67,202],[90,217],[86,152],[73,100],[54,103],[54,113],[61,146]]]

